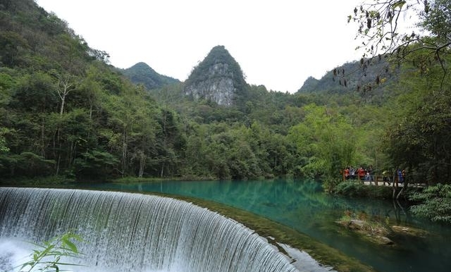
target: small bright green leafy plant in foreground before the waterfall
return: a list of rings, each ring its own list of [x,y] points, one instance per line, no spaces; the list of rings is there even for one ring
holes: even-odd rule
[[[74,242],[82,242],[82,238],[74,233],[65,233],[41,244],[35,244],[32,260],[23,263],[19,271],[61,271],[61,266],[74,266],[64,263],[62,259],[80,257]]]

